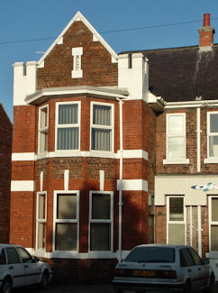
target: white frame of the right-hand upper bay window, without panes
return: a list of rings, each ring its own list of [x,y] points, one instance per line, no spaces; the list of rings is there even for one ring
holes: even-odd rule
[[[93,124],[93,108],[94,105],[106,105],[111,107],[111,125],[100,125],[100,124]],[[99,151],[99,150],[92,150],[92,129],[93,128],[102,128],[102,129],[109,129],[111,130],[111,151]],[[112,153],[114,152],[114,104],[112,103],[100,103],[100,102],[91,102],[90,107],[90,151],[103,154],[103,153]]]

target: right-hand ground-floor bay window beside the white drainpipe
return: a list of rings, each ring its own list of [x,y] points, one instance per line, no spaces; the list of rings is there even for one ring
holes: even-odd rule
[[[89,203],[89,251],[111,252],[113,193],[91,191]]]

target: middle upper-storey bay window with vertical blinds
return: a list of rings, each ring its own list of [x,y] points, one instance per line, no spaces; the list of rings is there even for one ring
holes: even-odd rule
[[[56,106],[56,150],[79,150],[80,103]]]

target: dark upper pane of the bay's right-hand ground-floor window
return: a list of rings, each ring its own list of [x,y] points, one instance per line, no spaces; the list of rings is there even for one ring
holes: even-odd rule
[[[92,195],[92,219],[111,218],[111,195]]]

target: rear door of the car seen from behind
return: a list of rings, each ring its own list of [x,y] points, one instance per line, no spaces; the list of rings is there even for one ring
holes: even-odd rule
[[[180,267],[185,279],[189,279],[191,281],[191,286],[195,291],[199,288],[199,280],[198,280],[198,271],[195,266],[195,261],[189,252],[188,248],[180,249],[179,251],[180,257]]]

